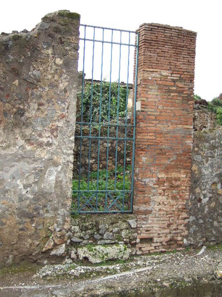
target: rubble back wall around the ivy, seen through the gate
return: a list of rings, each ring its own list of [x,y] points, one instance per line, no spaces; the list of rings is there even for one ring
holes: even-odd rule
[[[78,73],[78,99],[76,104],[76,115],[81,114],[81,94],[82,94],[82,78],[83,73],[80,71]],[[91,85],[92,80],[91,79],[85,79],[84,80],[84,86]],[[93,80],[94,84],[100,85],[100,80]],[[124,86],[126,88],[127,84],[124,82],[120,83],[120,86]],[[130,116],[132,114],[132,98],[133,98],[133,85],[128,84],[128,125],[130,125]],[[107,93],[107,96],[109,94]],[[81,121],[81,119],[77,118],[77,122]],[[119,117],[119,124],[125,125],[125,117],[121,118]],[[105,122],[104,122],[105,124]],[[109,129],[109,135],[110,137],[115,138],[116,137],[116,119],[111,120],[111,124],[114,124],[114,126],[110,126]],[[83,136],[89,136],[89,126],[83,125],[82,129]],[[76,125],[75,129],[75,135],[81,135],[81,126]],[[98,137],[98,127],[92,126],[91,130],[91,136]],[[102,126],[100,130],[100,136],[101,137],[107,137],[107,126]],[[127,129],[126,136],[128,138],[132,138],[132,129]],[[118,128],[118,137],[119,138],[125,138],[125,127],[119,126]],[[126,142],[126,165],[131,165],[131,141]],[[124,164],[124,146],[125,141],[124,140],[118,140],[118,146],[117,146],[117,164],[123,166]],[[90,167],[91,170],[97,170],[97,163],[98,163],[98,139],[91,139],[91,159],[90,159]],[[79,152],[80,152],[80,138],[75,139],[75,146],[73,150],[74,154],[74,161],[73,161],[73,175],[78,175],[79,172]],[[81,140],[81,172],[87,173],[88,172],[88,158],[89,158],[89,139],[83,138]],[[108,154],[108,170],[114,170],[115,169],[115,158],[116,158],[116,141],[113,139],[109,140],[109,154]],[[107,139],[100,139],[100,151],[99,151],[99,166],[100,169],[106,169],[107,165]]]

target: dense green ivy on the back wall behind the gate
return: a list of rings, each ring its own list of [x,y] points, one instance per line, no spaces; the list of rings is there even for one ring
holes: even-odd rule
[[[102,89],[101,89],[102,84]],[[90,121],[90,117],[93,122],[99,121],[99,114],[101,121],[108,121],[108,110],[110,105],[110,120],[117,118],[117,106],[119,105],[119,118],[126,116],[126,95],[127,89],[124,86],[119,86],[118,83],[109,83],[102,81],[100,83],[91,84],[86,83],[83,91],[83,120],[85,122]],[[101,92],[102,90],[102,92]],[[78,99],[81,101],[82,92],[78,93]],[[92,100],[91,100],[92,98]],[[101,100],[101,110],[99,111]],[[91,102],[92,101],[92,102]],[[91,108],[92,107],[92,108]],[[91,114],[90,114],[91,111]],[[80,111],[78,111],[77,118],[80,117]]]

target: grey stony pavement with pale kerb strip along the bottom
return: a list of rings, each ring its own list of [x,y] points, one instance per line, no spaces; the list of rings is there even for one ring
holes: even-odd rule
[[[109,266],[35,264],[0,270],[1,297],[221,297],[222,250],[132,258]],[[221,271],[221,274],[220,272]]]

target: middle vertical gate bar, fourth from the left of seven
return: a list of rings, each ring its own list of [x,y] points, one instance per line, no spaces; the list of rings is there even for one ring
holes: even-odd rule
[[[111,35],[111,57],[110,57],[110,86],[109,86],[109,104],[108,104],[108,129],[107,129],[107,155],[106,155],[106,197],[105,211],[107,211],[107,181],[108,181],[108,162],[109,162],[109,134],[110,134],[110,100],[111,100],[111,77],[112,77],[112,40],[113,30]]]

